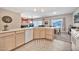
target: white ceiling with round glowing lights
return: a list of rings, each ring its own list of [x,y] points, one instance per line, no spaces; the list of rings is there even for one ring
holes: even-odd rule
[[[72,13],[76,8],[77,7],[3,7],[3,9],[21,13],[21,16],[28,18]]]

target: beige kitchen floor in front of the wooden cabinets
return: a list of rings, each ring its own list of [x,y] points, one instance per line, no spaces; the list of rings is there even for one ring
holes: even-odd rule
[[[71,43],[60,39],[55,38],[53,41],[46,39],[33,40],[14,51],[71,51]]]

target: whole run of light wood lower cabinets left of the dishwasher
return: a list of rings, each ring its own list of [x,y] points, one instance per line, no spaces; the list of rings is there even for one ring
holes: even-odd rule
[[[24,31],[0,33],[0,51],[9,51],[24,44]]]

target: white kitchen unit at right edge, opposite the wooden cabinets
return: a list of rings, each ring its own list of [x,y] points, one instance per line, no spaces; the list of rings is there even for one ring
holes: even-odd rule
[[[71,29],[72,50],[79,51],[79,31]]]

